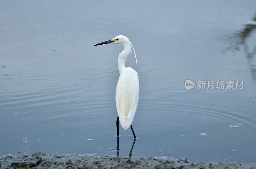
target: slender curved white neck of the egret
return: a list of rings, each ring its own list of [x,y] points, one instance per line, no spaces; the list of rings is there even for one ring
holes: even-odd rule
[[[117,63],[119,74],[121,74],[121,72],[124,70],[124,68],[125,68],[125,65],[124,65],[125,60],[126,60],[127,56],[132,51],[130,43],[124,43],[123,45],[124,45],[124,50],[119,54],[119,56],[118,56],[118,63]]]

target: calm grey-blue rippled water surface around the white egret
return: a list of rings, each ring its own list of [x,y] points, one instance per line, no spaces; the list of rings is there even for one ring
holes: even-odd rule
[[[0,155],[116,156],[122,34],[140,100],[132,157],[256,163],[255,1],[1,1]],[[185,80],[243,89],[186,90]],[[120,127],[128,156],[130,129]]]

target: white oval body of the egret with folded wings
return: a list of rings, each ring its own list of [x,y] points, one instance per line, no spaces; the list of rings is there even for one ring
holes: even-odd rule
[[[116,109],[121,126],[126,130],[133,121],[139,102],[139,78],[132,68],[125,68],[116,86]]]

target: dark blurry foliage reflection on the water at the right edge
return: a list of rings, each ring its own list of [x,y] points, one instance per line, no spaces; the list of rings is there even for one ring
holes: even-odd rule
[[[244,24],[244,28],[241,31],[236,31],[232,34],[223,34],[219,37],[220,41],[227,44],[225,51],[239,51],[240,48],[243,47],[249,69],[251,70],[253,81],[256,81],[256,65],[252,63],[256,54],[256,45],[254,45],[252,52],[250,52],[246,39],[252,36],[252,33],[255,30],[256,15],[252,21]]]

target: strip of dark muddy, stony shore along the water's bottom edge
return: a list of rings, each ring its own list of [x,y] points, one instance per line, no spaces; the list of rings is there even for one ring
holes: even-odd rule
[[[35,152],[30,155],[4,156],[0,158],[0,168],[244,168],[256,169],[255,164],[239,163],[192,163],[187,158],[155,158],[155,157],[95,157],[89,155],[46,155],[41,152]]]

